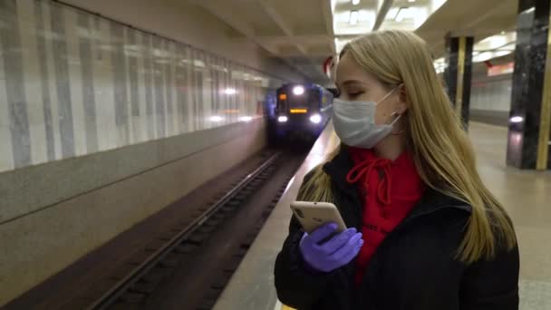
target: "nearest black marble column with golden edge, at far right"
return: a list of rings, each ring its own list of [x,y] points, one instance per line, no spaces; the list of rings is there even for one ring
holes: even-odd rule
[[[520,0],[511,94],[507,165],[549,169],[551,119],[550,0]]]

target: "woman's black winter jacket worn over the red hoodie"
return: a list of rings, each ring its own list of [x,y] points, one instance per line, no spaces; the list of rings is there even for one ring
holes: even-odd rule
[[[346,181],[352,167],[343,149],[324,171],[344,222],[360,231],[362,201],[357,186]],[[358,288],[354,261],[331,273],[304,268],[298,247],[304,232],[292,218],[275,261],[277,296],[299,310],[517,310],[517,247],[501,250],[492,261],[467,265],[454,258],[470,212],[464,202],[427,189],[377,248]]]

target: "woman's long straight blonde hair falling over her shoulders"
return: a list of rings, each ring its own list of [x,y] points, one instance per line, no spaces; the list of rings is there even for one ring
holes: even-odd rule
[[[430,188],[472,207],[459,259],[473,262],[495,257],[500,245],[515,247],[515,231],[507,212],[478,175],[474,150],[429,51],[416,34],[397,30],[365,34],[343,48],[383,84],[403,83],[409,102],[405,134],[420,178]],[[331,201],[331,190],[331,180],[320,165],[299,191],[299,199]]]

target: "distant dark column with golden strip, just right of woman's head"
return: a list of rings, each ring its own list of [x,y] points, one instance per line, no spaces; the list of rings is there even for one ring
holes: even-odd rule
[[[446,38],[446,71],[444,80],[448,95],[465,128],[469,125],[470,83],[472,79],[472,36]]]

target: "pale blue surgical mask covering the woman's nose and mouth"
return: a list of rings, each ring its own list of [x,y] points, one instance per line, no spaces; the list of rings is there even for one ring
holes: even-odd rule
[[[364,149],[372,149],[391,134],[393,125],[400,119],[398,115],[390,124],[375,123],[377,105],[384,102],[396,88],[387,93],[379,102],[350,102],[333,100],[333,125],[337,136],[344,144]],[[396,112],[392,113],[396,115]]]

